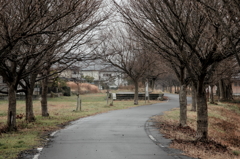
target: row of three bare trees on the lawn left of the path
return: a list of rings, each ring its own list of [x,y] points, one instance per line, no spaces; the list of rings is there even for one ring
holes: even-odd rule
[[[89,46],[109,16],[103,7],[101,0],[0,1],[0,75],[8,86],[9,131],[17,129],[19,91],[26,95],[26,120],[35,120],[32,95],[36,81],[42,81],[42,115],[49,115],[51,69],[61,68],[54,72],[58,73],[76,61],[91,58]]]

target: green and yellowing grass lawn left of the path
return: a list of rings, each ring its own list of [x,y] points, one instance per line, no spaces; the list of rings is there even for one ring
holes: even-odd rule
[[[60,129],[68,122],[90,115],[105,113],[111,110],[136,107],[133,100],[114,101],[113,106],[107,105],[106,93],[81,95],[82,111],[76,109],[77,97],[59,97],[48,99],[50,117],[41,116],[40,101],[34,101],[36,122],[26,123],[24,119],[17,119],[18,131],[0,133],[0,159],[15,159],[24,150],[42,146],[46,141],[43,137],[52,131]],[[151,104],[159,101],[150,101]],[[0,128],[6,125],[8,101],[0,101]],[[139,105],[145,101],[139,101]],[[25,101],[17,101],[17,114],[25,114]]]

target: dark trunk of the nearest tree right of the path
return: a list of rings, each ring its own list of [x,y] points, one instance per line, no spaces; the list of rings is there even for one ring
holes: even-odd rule
[[[208,138],[208,106],[205,87],[199,80],[197,88],[197,140],[207,140]]]

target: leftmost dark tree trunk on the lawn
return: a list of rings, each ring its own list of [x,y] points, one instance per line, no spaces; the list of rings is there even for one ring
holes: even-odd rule
[[[7,127],[8,131],[16,131],[16,90],[13,85],[8,88],[8,118]]]

